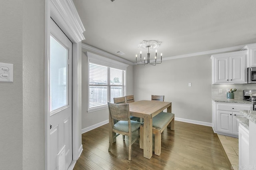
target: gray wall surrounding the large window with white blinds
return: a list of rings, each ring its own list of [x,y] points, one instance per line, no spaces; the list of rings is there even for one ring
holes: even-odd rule
[[[88,105],[88,61],[86,56],[86,49],[82,49],[82,129],[88,128],[90,126],[108,121],[108,109],[103,109],[95,112],[87,112]],[[89,51],[95,53],[93,51]],[[97,53],[95,53],[97,54]],[[100,55],[100,54],[98,54]],[[102,56],[102,55],[101,55]],[[102,56],[106,57],[106,56]],[[133,66],[130,65],[126,69],[126,94],[133,94]]]

